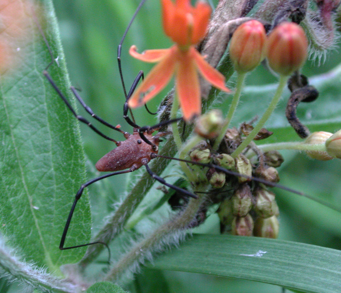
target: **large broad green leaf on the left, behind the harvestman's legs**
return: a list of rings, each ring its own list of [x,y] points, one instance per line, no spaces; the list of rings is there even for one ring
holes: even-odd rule
[[[0,80],[0,229],[23,258],[55,271],[84,254],[85,249],[59,251],[58,246],[74,195],[85,182],[85,160],[78,124],[43,75],[51,57],[35,18],[58,57],[59,67],[54,63],[48,72],[73,100],[52,3],[45,0],[29,18],[28,41],[18,44],[20,66]],[[89,239],[86,194],[74,218],[68,246]]]

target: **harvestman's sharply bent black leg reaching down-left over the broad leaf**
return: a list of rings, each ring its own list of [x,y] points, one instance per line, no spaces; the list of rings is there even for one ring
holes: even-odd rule
[[[68,233],[68,227],[70,226],[70,222],[71,222],[71,218],[72,218],[72,215],[73,215],[73,212],[74,212],[74,209],[76,208],[76,204],[78,202],[78,200],[81,198],[82,196],[82,193],[83,193],[83,190],[84,188],[88,187],[89,185],[91,185],[92,183],[94,182],[97,182],[99,180],[102,180],[104,178],[108,178],[108,177],[111,177],[111,176],[114,176],[114,175],[118,175],[118,174],[124,174],[124,173],[129,173],[129,172],[133,172],[135,171],[136,168],[130,168],[128,170],[123,170],[123,171],[117,171],[117,172],[113,172],[113,173],[110,173],[110,174],[106,174],[106,175],[103,175],[103,176],[100,176],[100,177],[97,177],[97,178],[94,178],[94,179],[91,179],[90,181],[88,181],[87,183],[84,183],[81,188],[79,188],[76,196],[75,196],[75,199],[73,201],[73,204],[72,204],[72,207],[70,209],[70,212],[68,213],[68,219],[67,219],[67,222],[65,224],[65,227],[64,227],[64,231],[63,231],[63,234],[62,234],[62,238],[60,240],[60,244],[59,244],[59,249],[60,250],[66,250],[66,249],[73,249],[73,248],[78,248],[78,247],[83,247],[83,246],[89,246],[89,245],[93,245],[93,244],[103,244],[105,246],[107,246],[105,243],[103,242],[100,242],[100,241],[95,241],[95,242],[91,242],[91,243],[87,243],[87,244],[80,244],[80,245],[74,245],[74,246],[69,246],[69,247],[64,247],[64,243],[65,243],[65,238],[67,236],[67,233]]]

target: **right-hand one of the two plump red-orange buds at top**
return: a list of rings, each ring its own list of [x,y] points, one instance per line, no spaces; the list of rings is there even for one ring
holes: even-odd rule
[[[267,43],[269,66],[281,75],[290,75],[307,59],[308,41],[294,22],[282,22],[270,33]]]

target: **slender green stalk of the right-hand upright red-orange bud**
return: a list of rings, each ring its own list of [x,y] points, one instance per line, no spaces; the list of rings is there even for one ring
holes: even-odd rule
[[[279,84],[277,86],[276,92],[273,96],[273,100],[271,101],[270,105],[264,112],[262,118],[258,121],[257,125],[254,126],[253,130],[250,134],[245,138],[245,140],[236,148],[236,150],[231,154],[233,158],[236,158],[247,146],[249,146],[250,142],[256,137],[259,130],[264,126],[264,124],[269,119],[270,115],[273,113],[274,108],[278,104],[278,101],[281,97],[283,92],[284,86],[287,84],[289,76],[280,76]]]

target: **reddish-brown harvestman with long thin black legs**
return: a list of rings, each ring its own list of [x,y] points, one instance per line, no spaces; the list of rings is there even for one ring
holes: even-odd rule
[[[67,249],[74,249],[74,248],[79,248],[79,247],[84,247],[84,246],[89,246],[89,245],[93,245],[93,244],[102,244],[107,246],[106,243],[100,242],[100,241],[94,241],[91,243],[87,243],[87,244],[80,244],[80,245],[74,245],[74,246],[69,246],[69,247],[64,247],[65,241],[66,241],[66,236],[68,233],[68,228],[71,222],[71,218],[72,215],[74,213],[76,204],[78,202],[78,200],[80,199],[84,188],[88,187],[89,185],[91,185],[92,183],[95,183],[99,180],[114,176],[114,175],[118,175],[118,174],[123,174],[123,173],[129,173],[129,172],[133,172],[135,170],[137,170],[138,168],[145,166],[147,172],[157,181],[159,181],[161,184],[166,185],[170,188],[175,189],[176,191],[180,192],[181,194],[183,194],[184,196],[189,196],[189,197],[193,197],[196,198],[196,195],[193,194],[192,192],[183,189],[183,188],[179,188],[177,186],[171,185],[169,183],[167,183],[163,178],[159,177],[159,175],[155,174],[148,166],[148,163],[150,162],[151,159],[154,159],[156,157],[158,157],[158,148],[159,148],[159,142],[160,142],[160,137],[166,135],[167,133],[165,132],[159,132],[156,135],[152,135],[153,132],[157,131],[160,129],[160,127],[162,126],[166,126],[168,124],[171,123],[176,123],[177,121],[181,120],[181,118],[178,119],[174,119],[174,120],[170,120],[170,121],[166,121],[166,122],[162,122],[159,123],[157,125],[154,126],[143,126],[140,127],[136,124],[134,117],[132,116],[132,119],[130,119],[130,117],[128,116],[128,111],[130,110],[128,107],[128,100],[130,98],[130,96],[132,95],[134,89],[136,88],[136,85],[138,84],[138,82],[140,81],[141,78],[143,78],[143,72],[140,71],[137,76],[135,81],[133,82],[128,94],[126,92],[126,88],[125,88],[125,84],[123,82],[123,75],[122,75],[122,70],[121,70],[121,60],[120,60],[120,55],[121,55],[121,48],[122,48],[122,43],[124,41],[124,38],[132,24],[132,22],[134,21],[137,12],[139,11],[141,5],[145,2],[145,0],[142,0],[139,4],[139,6],[136,9],[136,13],[134,14],[132,20],[130,21],[130,23],[128,24],[128,27],[122,37],[121,42],[118,45],[118,49],[117,49],[117,53],[118,53],[118,57],[117,57],[117,61],[118,61],[118,68],[119,68],[119,74],[120,74],[120,79],[121,79],[121,83],[122,83],[122,87],[123,87],[123,91],[125,94],[125,104],[123,107],[123,117],[124,119],[127,121],[127,123],[131,126],[134,127],[133,130],[133,134],[130,134],[126,131],[121,130],[119,127],[117,126],[113,126],[109,123],[107,123],[106,121],[104,121],[102,118],[100,118],[99,116],[97,116],[95,113],[93,113],[93,111],[91,110],[91,108],[85,104],[85,102],[83,101],[83,99],[80,97],[80,95],[78,94],[77,90],[75,87],[71,86],[70,89],[74,95],[74,97],[79,101],[79,103],[82,105],[82,107],[91,115],[91,117],[93,117],[95,120],[97,120],[98,122],[100,122],[101,124],[114,129],[115,131],[120,132],[121,134],[123,134],[123,136],[125,137],[125,141],[119,142],[114,140],[113,138],[105,135],[103,132],[101,132],[100,130],[98,130],[98,128],[96,128],[95,126],[93,126],[87,119],[85,119],[84,117],[78,115],[76,113],[76,111],[72,108],[72,106],[69,104],[68,100],[66,99],[66,97],[64,96],[64,94],[60,91],[60,89],[58,88],[58,86],[54,83],[54,81],[52,80],[51,76],[48,73],[48,69],[49,67],[54,63],[54,57],[52,54],[51,49],[49,48],[49,45],[44,37],[43,32],[41,31],[46,45],[49,49],[50,55],[51,55],[51,63],[49,63],[45,70],[44,70],[44,75],[46,77],[46,79],[48,80],[48,82],[53,86],[53,88],[55,89],[55,91],[57,92],[57,94],[59,95],[59,97],[64,101],[64,103],[68,106],[69,110],[72,112],[72,114],[75,116],[76,119],[78,119],[80,122],[86,124],[87,126],[89,126],[93,131],[95,131],[98,135],[102,136],[103,138],[112,141],[116,144],[116,148],[114,148],[114,150],[112,150],[111,152],[109,152],[108,154],[106,154],[102,159],[100,159],[97,164],[96,164],[96,168],[99,171],[110,171],[111,173],[106,174],[106,175],[102,175],[100,177],[94,178],[88,182],[86,182],[85,184],[83,184],[81,186],[81,188],[78,190],[74,202],[72,204],[72,207],[70,209],[69,215],[68,215],[68,219],[61,237],[61,242],[60,242],[60,246],[59,248],[61,250],[67,250]],[[163,157],[165,159],[174,159],[174,160],[178,160],[178,161],[183,161],[189,164],[195,164],[195,165],[199,165],[202,167],[210,167],[210,168],[215,168],[221,172],[224,172],[226,174],[229,175],[233,175],[233,176],[242,176],[242,177],[247,177],[246,175],[241,175],[237,172],[233,172],[230,170],[227,170],[223,167],[217,166],[215,164],[201,164],[201,163],[196,163],[196,162],[190,162],[187,160],[181,160],[181,159],[176,159],[176,158],[170,158],[170,157],[166,157],[166,156],[159,156],[159,157]],[[280,186],[278,184],[274,184],[274,183],[270,183],[266,180],[260,179],[260,178],[249,178],[250,180],[254,180],[257,181],[259,183],[263,183],[263,184],[267,184],[269,186],[272,187],[278,187],[278,188],[283,188],[285,190],[288,190],[290,192],[296,193],[298,195],[303,195],[303,196],[307,196],[309,197],[309,195],[306,195],[304,193],[298,192],[294,189],[291,188],[286,188],[284,186]]]

